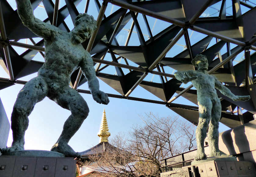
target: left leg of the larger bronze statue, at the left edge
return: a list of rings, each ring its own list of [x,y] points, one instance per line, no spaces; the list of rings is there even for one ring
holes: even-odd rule
[[[2,150],[3,154],[9,151],[24,150],[24,135],[28,127],[28,116],[35,104],[46,97],[47,90],[46,82],[40,76],[31,79],[20,90],[11,116],[13,143],[11,147]]]

